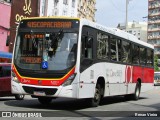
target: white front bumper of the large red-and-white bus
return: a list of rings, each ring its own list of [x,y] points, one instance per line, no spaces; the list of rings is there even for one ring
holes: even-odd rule
[[[68,97],[76,98],[76,94],[73,92],[73,86],[37,86],[27,85],[11,81],[11,91],[13,94],[24,94],[33,96],[45,96],[45,97]]]

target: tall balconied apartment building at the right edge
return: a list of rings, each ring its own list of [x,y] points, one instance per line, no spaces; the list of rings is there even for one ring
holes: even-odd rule
[[[148,43],[160,57],[160,0],[148,0]]]

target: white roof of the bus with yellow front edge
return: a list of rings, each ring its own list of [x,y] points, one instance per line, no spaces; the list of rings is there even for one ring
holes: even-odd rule
[[[57,16],[57,17],[55,17],[55,16],[49,16],[49,17],[29,17],[29,18],[24,18],[23,20],[32,20],[32,19],[71,19],[71,20],[77,19],[77,20],[80,21],[81,26],[88,25],[90,27],[93,27],[93,28],[105,31],[105,32],[113,34],[115,36],[118,36],[118,37],[127,39],[129,41],[135,42],[137,44],[140,44],[140,45],[143,45],[143,46],[146,46],[146,47],[154,49],[153,45],[139,40],[136,36],[134,36],[134,35],[132,35],[130,33],[127,33],[125,31],[122,31],[122,30],[117,29],[117,28],[105,27],[103,25],[100,25],[98,23],[92,22],[92,21],[84,19],[84,18],[65,17],[65,16]]]

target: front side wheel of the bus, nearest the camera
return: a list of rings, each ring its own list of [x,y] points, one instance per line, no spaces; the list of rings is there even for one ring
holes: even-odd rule
[[[101,86],[100,84],[97,84],[95,88],[94,98],[89,99],[90,106],[97,107],[100,103],[100,100],[101,100]]]

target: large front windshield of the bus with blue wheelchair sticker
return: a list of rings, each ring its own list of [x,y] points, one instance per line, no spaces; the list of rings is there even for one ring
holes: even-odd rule
[[[71,68],[76,62],[77,36],[76,32],[63,30],[50,33],[19,32],[14,63],[19,68],[28,70]]]

